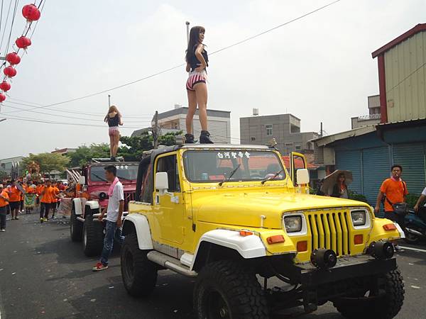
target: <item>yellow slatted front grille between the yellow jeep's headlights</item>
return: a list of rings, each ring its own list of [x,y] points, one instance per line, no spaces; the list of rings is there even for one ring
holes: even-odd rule
[[[337,256],[351,254],[349,243],[351,231],[349,213],[307,213],[307,225],[310,229],[312,250],[327,248],[334,250]]]

